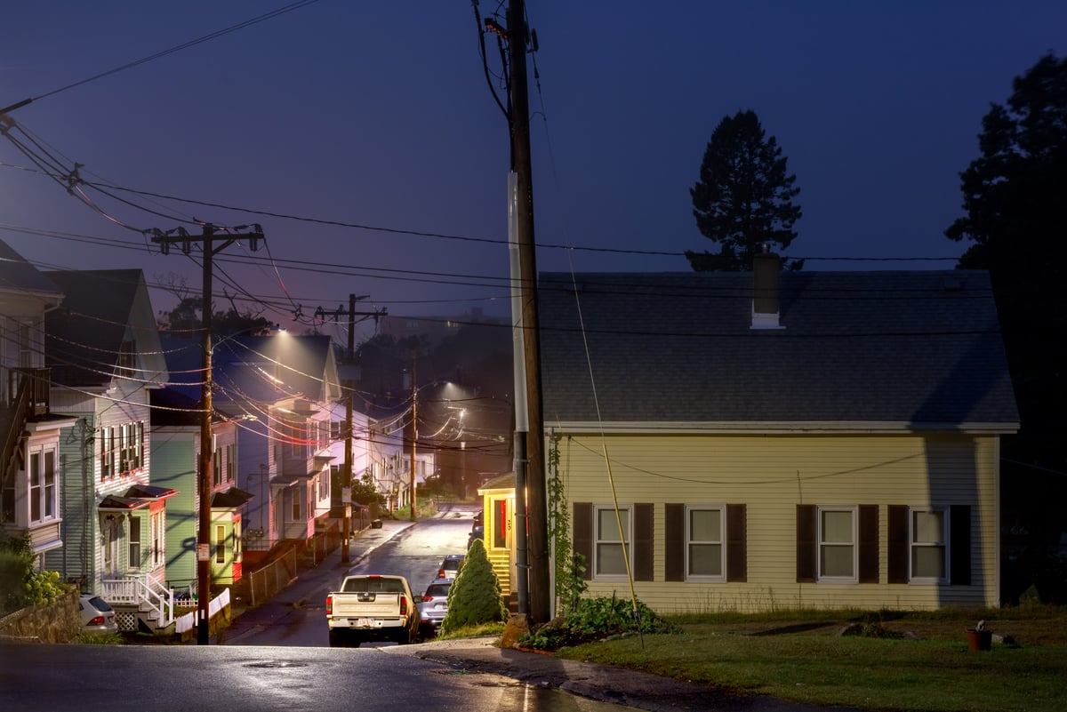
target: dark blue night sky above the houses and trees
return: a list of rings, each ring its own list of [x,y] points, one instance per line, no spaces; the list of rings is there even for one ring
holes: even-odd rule
[[[347,306],[350,293],[394,315],[506,313],[507,125],[468,0],[319,0],[64,88],[283,5],[5,7],[0,107],[34,98],[12,118],[90,181],[382,228],[112,191],[153,214],[85,189],[138,229],[260,223],[269,250],[251,255],[256,265],[228,261],[248,260],[242,246],[223,250],[217,292],[236,293],[232,277],[278,321]],[[492,15],[497,3],[479,7]],[[790,254],[806,269],[951,268],[811,258],[958,256],[966,245],[943,230],[959,215],[958,173],[977,156],[983,115],[1042,54],[1067,53],[1062,1],[528,0],[527,12],[540,43],[538,78],[529,71],[542,271],[688,271],[685,249],[714,248],[688,190],[712,131],[745,109],[797,176],[803,217]],[[149,281],[170,272],[193,292],[201,284],[180,252],[157,255],[3,139],[0,239],[42,268],[140,266]]]

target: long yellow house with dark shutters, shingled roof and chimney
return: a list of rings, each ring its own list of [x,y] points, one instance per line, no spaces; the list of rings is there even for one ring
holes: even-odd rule
[[[988,275],[754,266],[541,275],[545,431],[589,595],[999,605],[1018,411]]]

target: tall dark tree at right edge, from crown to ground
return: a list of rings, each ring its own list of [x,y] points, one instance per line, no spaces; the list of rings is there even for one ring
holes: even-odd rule
[[[1067,565],[1055,555],[1067,531],[1067,59],[1051,54],[1013,81],[1006,104],[982,120],[980,157],[959,174],[964,216],[945,236],[973,244],[959,268],[986,269],[993,286],[1019,433],[1004,438],[1005,529],[1024,545],[1005,559],[1002,597],[1031,584],[1067,601]],[[1058,472],[1060,475],[1052,474]]]

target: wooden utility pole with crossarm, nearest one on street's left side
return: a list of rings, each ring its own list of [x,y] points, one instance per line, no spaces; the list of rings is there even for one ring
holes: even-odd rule
[[[208,605],[211,602],[211,464],[214,455],[211,448],[211,258],[214,257],[216,253],[222,252],[240,239],[249,240],[252,250],[255,252],[264,233],[256,225],[253,232],[216,236],[214,226],[208,223],[203,225],[203,233],[198,239],[192,238],[181,228],[178,228],[177,232],[178,237],[157,232],[153,236],[152,241],[159,243],[164,255],[170,253],[171,244],[181,243],[182,252],[188,255],[192,249],[193,242],[203,242],[204,296],[201,317],[201,328],[203,329],[201,363],[204,373],[201,382],[200,476],[196,480],[200,506],[196,534],[196,644],[207,645],[211,622]],[[218,247],[214,246],[217,241],[222,243]]]

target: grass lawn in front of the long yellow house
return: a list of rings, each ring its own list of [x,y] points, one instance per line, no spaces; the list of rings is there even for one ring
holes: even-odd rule
[[[988,651],[967,629],[985,619]],[[937,712],[1067,710],[1067,609],[1024,606],[864,615],[793,612],[670,618],[682,632],[562,648],[556,654],[810,705]],[[866,621],[866,635],[842,636]]]

